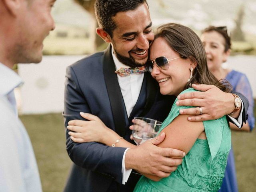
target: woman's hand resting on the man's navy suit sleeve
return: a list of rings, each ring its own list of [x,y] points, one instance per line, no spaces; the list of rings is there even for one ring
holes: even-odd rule
[[[80,112],[80,115],[88,121],[69,121],[67,128],[70,130],[70,132],[68,132],[70,138],[77,143],[104,143],[104,138],[106,138],[110,129],[95,115],[83,112]]]

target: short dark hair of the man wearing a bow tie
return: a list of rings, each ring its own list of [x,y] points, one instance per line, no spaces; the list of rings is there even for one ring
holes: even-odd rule
[[[112,37],[113,30],[116,28],[112,17],[118,12],[134,10],[145,2],[146,0],[96,0],[94,10],[99,27]]]

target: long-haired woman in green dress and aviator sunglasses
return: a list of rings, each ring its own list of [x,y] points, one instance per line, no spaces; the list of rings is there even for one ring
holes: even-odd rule
[[[161,94],[178,96],[195,92],[192,84],[214,84],[225,92],[230,92],[228,83],[219,82],[207,68],[206,54],[200,38],[188,27],[180,24],[165,24],[158,28],[155,40],[150,46],[150,60],[146,63],[148,72],[160,86]],[[226,116],[217,120],[190,122],[189,115],[182,110],[189,106],[177,106],[177,100],[170,114],[164,120],[160,133],[166,137],[160,147],[170,147],[186,153],[177,170],[166,178],[152,175],[142,176],[135,192],[202,192],[217,191],[224,177],[231,134]],[[202,112],[202,108],[196,110]],[[70,132],[75,142],[101,142],[111,146],[120,136],[108,129],[96,116],[85,114],[93,120],[97,129],[79,128],[82,134]],[[77,126],[70,128],[76,131]],[[87,135],[87,136],[86,136]],[[88,137],[89,135],[89,137]],[[116,147],[135,148],[124,139]]]

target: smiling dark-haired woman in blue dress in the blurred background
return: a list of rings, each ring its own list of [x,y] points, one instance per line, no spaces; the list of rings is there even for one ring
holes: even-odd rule
[[[209,70],[218,79],[226,79],[230,82],[235,92],[240,92],[248,99],[248,120],[241,129],[230,123],[230,128],[236,131],[252,131],[254,128],[252,88],[245,74],[222,67],[231,52],[230,35],[226,27],[210,26],[203,30],[201,40],[204,44]],[[234,162],[234,152],[231,149],[228,156],[228,163],[225,170],[225,177],[219,192],[238,192],[236,181],[236,168]]]

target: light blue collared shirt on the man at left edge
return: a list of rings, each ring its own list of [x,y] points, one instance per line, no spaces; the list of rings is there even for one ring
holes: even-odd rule
[[[17,116],[20,77],[0,63],[0,192],[42,192],[34,151]]]

